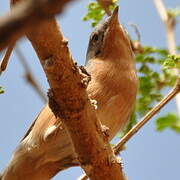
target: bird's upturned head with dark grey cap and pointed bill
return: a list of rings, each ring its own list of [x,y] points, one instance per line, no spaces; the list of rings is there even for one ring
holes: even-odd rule
[[[99,24],[90,36],[86,55],[89,59],[129,59],[133,52],[131,43],[124,28],[118,21],[118,7],[113,14]]]

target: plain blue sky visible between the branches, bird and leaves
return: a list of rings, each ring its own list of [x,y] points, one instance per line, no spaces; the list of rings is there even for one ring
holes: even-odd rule
[[[79,64],[84,64],[88,38],[92,32],[89,22],[82,22],[89,1],[75,1],[68,5],[58,22],[69,40],[72,55]],[[180,6],[179,0],[164,1],[168,7]],[[164,26],[154,8],[152,0],[121,0],[120,22],[134,35],[128,23],[137,24],[141,33],[142,44],[159,47],[166,46]],[[0,15],[8,11],[7,0],[0,2]],[[180,26],[177,26],[176,39],[180,45]],[[27,57],[27,62],[43,90],[47,92],[48,84],[30,43],[22,38],[18,46]],[[0,54],[2,57],[2,54]],[[0,85],[5,94],[0,96],[0,171],[6,166],[12,152],[21,137],[30,126],[43,102],[23,79],[24,69],[13,53],[7,71],[0,77]],[[161,112],[176,112],[174,101]],[[155,131],[153,119],[127,143],[127,150],[122,153],[124,169],[129,180],[169,180],[179,179],[180,171],[180,135],[166,130]],[[81,175],[80,168],[72,168],[58,174],[54,180],[74,180]]]

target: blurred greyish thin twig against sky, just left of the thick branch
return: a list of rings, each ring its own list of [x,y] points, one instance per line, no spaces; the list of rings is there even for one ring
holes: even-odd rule
[[[16,46],[15,52],[18,56],[18,59],[20,60],[21,64],[23,65],[25,69],[25,78],[26,81],[33,87],[33,89],[38,93],[38,95],[41,97],[41,99],[44,102],[47,102],[47,96],[42,91],[40,85],[35,80],[35,77],[33,76],[28,64],[26,63],[26,58],[24,57],[23,53],[20,51],[20,49]]]

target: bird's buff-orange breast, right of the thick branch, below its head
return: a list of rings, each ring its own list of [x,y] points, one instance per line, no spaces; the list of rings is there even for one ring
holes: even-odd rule
[[[127,123],[135,104],[138,84],[135,67],[94,61],[88,72],[92,79],[88,95],[97,101],[98,119],[110,129],[112,138]]]

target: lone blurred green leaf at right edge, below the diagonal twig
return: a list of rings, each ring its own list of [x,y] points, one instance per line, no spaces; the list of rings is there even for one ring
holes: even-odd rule
[[[167,128],[180,133],[180,117],[178,117],[176,114],[168,113],[167,115],[159,117],[156,120],[157,131],[163,131]]]

